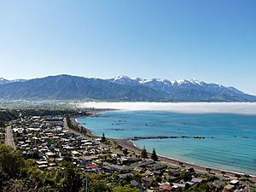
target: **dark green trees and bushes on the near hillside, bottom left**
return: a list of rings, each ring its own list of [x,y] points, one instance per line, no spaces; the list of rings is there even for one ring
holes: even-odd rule
[[[0,191],[79,192],[84,191],[86,177],[90,192],[140,191],[116,175],[85,174],[68,159],[63,161],[60,168],[42,172],[34,160],[25,160],[20,151],[0,144]]]

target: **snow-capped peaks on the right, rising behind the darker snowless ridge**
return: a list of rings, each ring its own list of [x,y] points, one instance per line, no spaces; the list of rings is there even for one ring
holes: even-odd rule
[[[203,101],[252,101],[249,96],[234,87],[225,87],[221,84],[207,84],[197,79],[180,79],[170,81],[168,79],[140,79],[118,76],[108,79],[114,84],[128,86],[143,85],[151,89],[168,94],[173,101],[203,102]]]

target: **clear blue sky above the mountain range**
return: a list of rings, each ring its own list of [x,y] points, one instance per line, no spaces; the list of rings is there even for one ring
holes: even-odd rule
[[[256,95],[255,0],[0,0],[0,77],[199,79]]]

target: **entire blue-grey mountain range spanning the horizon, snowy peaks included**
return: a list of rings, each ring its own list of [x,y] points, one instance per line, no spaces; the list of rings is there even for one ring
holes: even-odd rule
[[[251,96],[220,84],[195,79],[169,81],[118,76],[113,79],[71,75],[41,79],[0,79],[2,99],[83,100],[108,102],[256,102]]]

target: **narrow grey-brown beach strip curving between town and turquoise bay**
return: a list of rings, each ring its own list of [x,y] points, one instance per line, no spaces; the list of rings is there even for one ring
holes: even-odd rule
[[[115,109],[112,109],[115,110]],[[108,111],[108,110],[102,110],[102,111]],[[100,111],[97,111],[95,113],[93,113],[93,115],[90,115],[90,117],[97,117]],[[76,122],[76,124],[78,126],[83,126],[84,129],[87,132],[87,135],[89,137],[98,137],[96,135],[93,134],[92,131],[90,131],[90,129],[82,124],[79,123],[79,121],[77,120],[78,118],[82,118],[82,117],[76,117],[76,118],[72,118],[74,119],[73,121]],[[87,118],[87,117],[85,117]],[[137,147],[137,145],[135,143],[133,143],[133,141],[129,140],[129,139],[122,139],[122,138],[108,138],[108,140],[112,141],[112,142],[116,142],[118,143],[122,148],[126,148],[128,150],[131,150],[133,152],[135,152],[136,154],[141,154],[142,152],[142,148]],[[148,153],[148,156],[150,156],[151,154]],[[175,158],[172,157],[167,157],[164,155],[160,155],[157,154],[159,157],[159,160],[157,162],[166,164],[166,166],[175,166],[175,167],[182,167],[182,168],[194,168],[195,172],[200,172],[200,173],[207,173],[210,174],[212,176],[217,176],[217,177],[224,177],[224,178],[232,178],[232,179],[236,179],[236,174],[244,176],[244,175],[249,175],[250,177],[253,178],[253,182],[256,183],[256,175],[252,175],[252,174],[248,174],[248,173],[242,173],[242,172],[235,172],[235,171],[230,171],[230,170],[224,170],[224,169],[220,169],[220,168],[216,168],[216,167],[210,167],[210,166],[201,166],[201,165],[197,165],[195,163],[192,162],[187,162],[184,160],[177,160]],[[210,169],[211,171],[208,172],[207,169]],[[222,172],[225,172],[224,175],[222,174]]]

